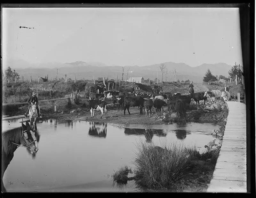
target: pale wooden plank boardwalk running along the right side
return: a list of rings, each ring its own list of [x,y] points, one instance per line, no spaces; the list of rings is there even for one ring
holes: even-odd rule
[[[207,192],[246,193],[246,105],[227,103],[228,121]]]

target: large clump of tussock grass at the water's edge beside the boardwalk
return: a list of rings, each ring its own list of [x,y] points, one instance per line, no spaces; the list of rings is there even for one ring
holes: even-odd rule
[[[186,169],[192,158],[197,154],[196,147],[185,147],[184,144],[174,142],[163,148],[154,143],[138,144],[135,178],[139,185],[149,188],[174,187],[181,178],[182,170]]]

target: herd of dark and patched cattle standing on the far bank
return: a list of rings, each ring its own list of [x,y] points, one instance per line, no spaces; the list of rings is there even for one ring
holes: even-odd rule
[[[130,107],[139,107],[140,115],[142,115],[143,108],[145,109],[146,116],[150,116],[151,110],[153,109],[160,110],[163,109],[163,106],[168,106],[168,110],[175,108],[179,112],[180,117],[186,117],[186,111],[189,109],[191,99],[196,101],[196,104],[199,104],[200,100],[207,101],[209,98],[212,103],[216,102],[218,99],[228,100],[230,94],[228,91],[203,91],[197,93],[190,93],[188,95],[181,95],[179,92],[170,93],[162,92],[160,94],[153,93],[123,93],[119,91],[104,91],[103,93],[90,93],[89,94],[89,104],[88,107],[91,111],[91,118],[94,117],[94,111],[101,111],[101,118],[103,113],[107,117],[107,99],[110,99],[111,102],[117,104],[118,110],[123,109],[124,115],[127,109],[129,115],[131,115],[129,108]],[[213,98],[213,99],[212,99]],[[163,109],[164,111],[164,109]]]

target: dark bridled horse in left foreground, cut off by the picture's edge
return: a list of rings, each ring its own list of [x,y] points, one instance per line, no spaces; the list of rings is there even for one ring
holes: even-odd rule
[[[38,151],[38,132],[32,131],[28,122],[21,123],[21,127],[2,133],[2,171],[1,171],[1,191],[6,192],[3,182],[4,172],[12,161],[14,151],[18,147],[25,147],[27,151],[35,157]]]

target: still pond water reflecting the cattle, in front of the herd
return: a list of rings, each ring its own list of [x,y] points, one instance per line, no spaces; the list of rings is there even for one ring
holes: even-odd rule
[[[3,121],[2,130],[19,127],[20,121]],[[4,173],[4,186],[8,192],[138,192],[133,181],[122,188],[113,186],[111,174],[122,165],[135,167],[140,140],[158,146],[180,141],[199,148],[212,140],[210,132],[216,128],[212,123],[118,125],[46,120],[37,123],[38,153],[31,156],[19,147]]]

